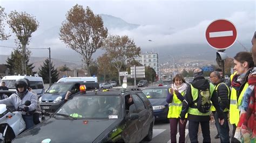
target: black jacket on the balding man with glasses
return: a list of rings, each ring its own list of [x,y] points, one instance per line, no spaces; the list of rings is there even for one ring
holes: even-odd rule
[[[218,84],[216,84],[216,86]],[[221,101],[220,102],[221,110],[224,110],[225,108],[229,109],[230,100],[228,99],[228,97],[230,97],[231,91],[228,93],[228,90],[229,90],[229,88],[223,82],[221,82],[219,87],[217,88],[217,93],[218,93],[220,101]]]

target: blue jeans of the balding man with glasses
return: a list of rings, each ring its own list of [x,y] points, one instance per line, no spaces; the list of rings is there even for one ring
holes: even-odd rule
[[[220,135],[220,142],[230,142],[230,127],[228,127],[228,121],[227,121],[227,113],[224,112],[224,124],[220,125],[219,123],[219,117],[218,113],[214,113],[214,119],[215,119],[215,125],[217,127],[217,131]]]

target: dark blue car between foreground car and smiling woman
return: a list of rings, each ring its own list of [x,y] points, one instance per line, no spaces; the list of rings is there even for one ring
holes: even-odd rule
[[[169,88],[171,87],[149,87],[142,90],[153,106],[154,117],[156,117],[156,120],[168,121],[167,115],[169,112],[169,104],[166,102],[166,97]]]

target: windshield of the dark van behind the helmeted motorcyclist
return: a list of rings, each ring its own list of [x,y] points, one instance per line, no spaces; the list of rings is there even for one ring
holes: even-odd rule
[[[73,83],[57,83],[53,84],[47,91],[46,93],[48,94],[60,94],[67,92],[70,87],[73,85]]]

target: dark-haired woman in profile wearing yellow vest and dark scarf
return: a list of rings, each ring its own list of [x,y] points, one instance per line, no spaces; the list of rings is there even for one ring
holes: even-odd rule
[[[231,97],[230,97],[230,124],[233,125],[231,142],[240,142],[234,138],[235,129],[239,121],[239,109],[242,97],[245,90],[248,88],[248,74],[247,71],[253,67],[252,53],[239,52],[234,56],[234,70],[236,71],[231,75]]]

